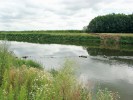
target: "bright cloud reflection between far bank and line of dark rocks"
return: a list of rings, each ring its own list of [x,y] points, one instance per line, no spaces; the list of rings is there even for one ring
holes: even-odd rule
[[[11,42],[11,50],[14,51],[17,56],[35,56],[35,57],[66,57],[88,55],[86,50],[83,50],[81,46],[66,46],[58,44],[33,44],[24,42]]]

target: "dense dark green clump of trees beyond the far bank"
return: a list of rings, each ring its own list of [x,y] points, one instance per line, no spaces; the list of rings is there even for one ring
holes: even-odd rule
[[[91,33],[133,33],[133,14],[108,14],[91,20],[86,27]]]

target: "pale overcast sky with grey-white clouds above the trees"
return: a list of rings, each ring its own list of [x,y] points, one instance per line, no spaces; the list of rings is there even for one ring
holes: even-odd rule
[[[0,31],[80,30],[98,15],[133,13],[133,0],[0,0]]]

